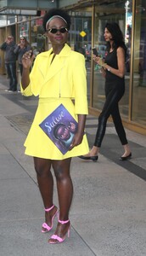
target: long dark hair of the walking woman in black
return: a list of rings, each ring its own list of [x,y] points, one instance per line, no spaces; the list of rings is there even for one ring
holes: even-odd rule
[[[120,26],[117,23],[113,22],[107,23],[105,27],[110,32],[112,40],[114,41],[113,48],[117,49],[118,47],[122,47],[125,50],[126,54],[126,44],[124,42],[124,37],[123,33],[121,32]],[[110,51],[110,42],[107,43],[107,50]]]

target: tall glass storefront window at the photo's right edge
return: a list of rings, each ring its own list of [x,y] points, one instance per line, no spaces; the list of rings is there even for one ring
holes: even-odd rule
[[[136,1],[132,76],[132,121],[146,125],[146,2]]]

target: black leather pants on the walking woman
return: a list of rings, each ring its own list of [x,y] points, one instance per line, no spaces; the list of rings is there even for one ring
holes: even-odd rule
[[[109,85],[105,87],[105,96],[106,101],[104,103],[104,108],[98,117],[98,131],[96,133],[94,146],[100,148],[101,143],[104,138],[106,123],[110,114],[112,116],[115,130],[118,134],[118,137],[121,140],[122,145],[127,144],[126,140],[126,132],[121,122],[121,115],[119,113],[118,102],[121,100],[121,97],[124,95],[125,86],[121,86],[121,84],[116,84],[115,87],[109,89]],[[107,88],[107,89],[106,89]]]

